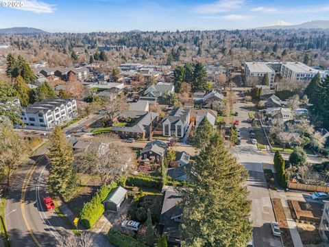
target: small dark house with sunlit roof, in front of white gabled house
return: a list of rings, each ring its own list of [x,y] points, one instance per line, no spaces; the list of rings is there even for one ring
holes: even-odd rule
[[[143,150],[141,151],[141,156],[139,161],[156,161],[157,163],[162,162],[166,152],[168,145],[163,141],[150,141],[145,145]]]

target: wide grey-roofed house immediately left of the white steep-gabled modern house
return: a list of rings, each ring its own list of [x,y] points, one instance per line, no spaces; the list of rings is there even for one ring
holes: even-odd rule
[[[112,132],[121,137],[134,137],[145,139],[149,137],[150,131],[156,128],[158,113],[127,110],[118,116],[119,121],[125,122],[125,126],[113,126]]]

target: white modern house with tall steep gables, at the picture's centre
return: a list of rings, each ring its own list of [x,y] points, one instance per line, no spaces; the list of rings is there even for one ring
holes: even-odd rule
[[[162,134],[164,137],[184,137],[190,124],[191,110],[176,108],[162,120]]]

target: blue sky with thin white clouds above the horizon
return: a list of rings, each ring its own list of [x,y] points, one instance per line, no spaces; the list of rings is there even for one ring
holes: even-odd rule
[[[232,30],[328,20],[328,0],[0,0],[0,28],[47,32]],[[15,1],[17,3],[17,1]]]

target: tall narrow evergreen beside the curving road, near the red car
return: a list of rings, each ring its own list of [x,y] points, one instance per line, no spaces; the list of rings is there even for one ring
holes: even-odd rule
[[[49,183],[54,191],[66,195],[75,187],[75,172],[73,166],[73,148],[66,141],[60,127],[53,130],[50,138],[51,146],[47,154],[51,169]]]

